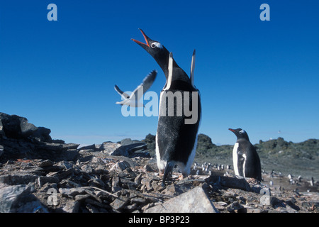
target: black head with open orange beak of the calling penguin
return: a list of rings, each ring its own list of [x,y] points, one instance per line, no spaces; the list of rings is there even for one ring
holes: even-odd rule
[[[144,36],[145,43],[142,43],[138,40],[132,39],[135,43],[138,43],[144,50],[146,50],[154,59],[157,61],[158,65],[162,68],[164,72],[167,71],[168,60],[169,60],[169,51],[159,43],[158,41],[150,39],[142,29],[140,32]],[[165,73],[166,75],[166,73]]]

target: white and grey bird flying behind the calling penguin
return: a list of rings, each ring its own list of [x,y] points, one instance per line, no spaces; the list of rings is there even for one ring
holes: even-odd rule
[[[132,92],[132,94],[130,94],[130,96],[127,93],[122,92],[121,89],[115,85],[114,89],[124,99],[123,101],[117,101],[116,104],[120,104],[121,106],[127,105],[132,107],[144,106],[144,104],[142,104],[138,100],[142,97],[142,94],[144,94],[148,89],[150,89],[153,82],[155,81],[156,75],[156,70],[153,70],[152,72],[150,72],[150,74],[147,74],[147,76],[143,79],[142,84],[138,85],[138,87],[135,88],[135,90]]]

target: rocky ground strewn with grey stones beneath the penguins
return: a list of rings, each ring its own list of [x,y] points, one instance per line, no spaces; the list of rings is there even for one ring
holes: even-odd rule
[[[178,180],[176,169],[162,187],[145,143],[125,139],[79,148],[52,140],[49,129],[25,118],[0,117],[0,212],[319,211],[315,180],[273,171],[257,182],[235,177],[227,165],[197,162],[189,177]]]

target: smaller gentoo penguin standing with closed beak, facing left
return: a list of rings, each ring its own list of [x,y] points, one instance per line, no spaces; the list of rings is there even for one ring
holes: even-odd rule
[[[262,180],[262,167],[256,149],[250,143],[248,134],[241,128],[232,129],[237,141],[233,148],[233,165],[235,175]]]

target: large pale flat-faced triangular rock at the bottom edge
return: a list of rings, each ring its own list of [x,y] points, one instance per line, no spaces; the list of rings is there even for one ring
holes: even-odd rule
[[[203,188],[196,187],[147,209],[145,213],[218,213],[218,211],[208,199]]]

